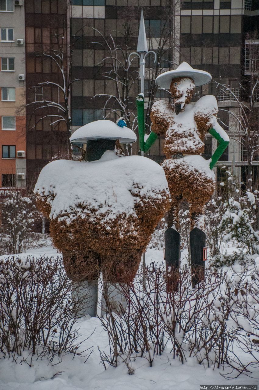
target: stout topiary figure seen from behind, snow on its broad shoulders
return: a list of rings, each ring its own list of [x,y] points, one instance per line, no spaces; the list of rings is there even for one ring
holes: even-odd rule
[[[76,130],[70,140],[87,144],[87,161],[53,161],[35,186],[68,275],[92,285],[90,315],[96,313],[100,271],[113,290],[118,283],[130,283],[169,207],[163,169],[147,158],[116,153],[116,140],[136,140],[123,120],[119,124],[103,120]]]

